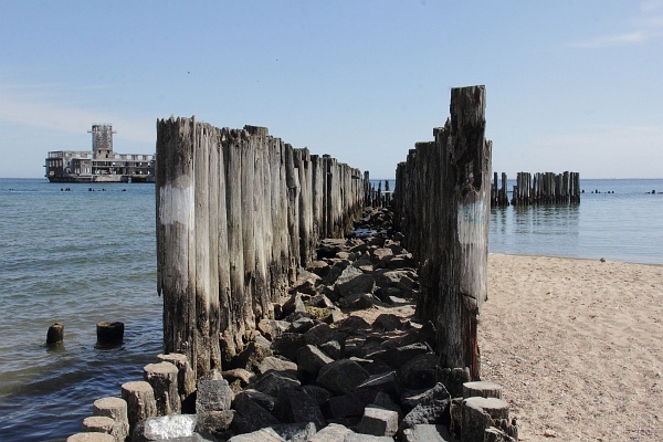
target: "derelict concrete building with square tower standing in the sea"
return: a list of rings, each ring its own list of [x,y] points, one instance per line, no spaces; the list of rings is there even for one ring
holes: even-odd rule
[[[155,182],[155,155],[115,154],[113,125],[92,126],[92,151],[50,151],[44,167],[51,182]]]

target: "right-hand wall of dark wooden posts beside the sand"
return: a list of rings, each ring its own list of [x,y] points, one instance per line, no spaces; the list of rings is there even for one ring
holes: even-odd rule
[[[487,293],[492,143],[485,87],[451,91],[451,118],[396,171],[392,208],[419,261],[417,314],[434,323],[439,377],[478,379],[477,316]],[[461,379],[459,379],[461,380]]]

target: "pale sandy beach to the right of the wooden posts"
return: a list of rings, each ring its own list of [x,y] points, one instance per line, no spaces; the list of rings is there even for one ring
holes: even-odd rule
[[[491,254],[482,379],[522,440],[663,438],[663,266]]]

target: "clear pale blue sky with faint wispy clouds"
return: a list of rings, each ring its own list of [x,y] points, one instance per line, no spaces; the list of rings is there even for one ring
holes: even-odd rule
[[[0,177],[196,115],[390,178],[484,84],[495,171],[663,178],[661,0],[3,0],[0,41]]]

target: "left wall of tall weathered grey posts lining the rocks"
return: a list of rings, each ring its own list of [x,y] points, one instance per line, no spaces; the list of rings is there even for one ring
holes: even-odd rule
[[[264,127],[157,122],[157,290],[164,349],[221,368],[272,303],[360,214],[361,172]]]

